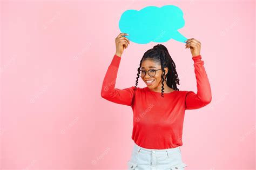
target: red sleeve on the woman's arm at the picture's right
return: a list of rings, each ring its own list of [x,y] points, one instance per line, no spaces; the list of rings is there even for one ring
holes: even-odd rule
[[[205,71],[201,55],[193,56],[194,73],[197,79],[197,94],[188,91],[185,98],[185,110],[197,109],[209,104],[212,100],[211,86]]]

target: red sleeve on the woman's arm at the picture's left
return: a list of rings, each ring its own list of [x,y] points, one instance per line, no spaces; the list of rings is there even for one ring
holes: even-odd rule
[[[113,103],[132,106],[135,87],[132,86],[126,89],[114,88],[120,60],[121,57],[114,55],[103,80],[101,96]]]

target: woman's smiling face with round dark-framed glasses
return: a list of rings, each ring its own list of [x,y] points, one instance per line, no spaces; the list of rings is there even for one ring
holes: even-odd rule
[[[148,72],[149,70],[157,70],[156,74],[153,77],[150,77],[149,74],[154,74],[154,72]],[[153,60],[147,59],[142,62],[142,68],[140,70],[147,71],[145,76],[142,77],[143,81],[150,89],[161,89],[161,74],[163,73],[161,70],[160,63],[153,62]],[[142,72],[143,72],[142,71]],[[168,73],[168,67],[165,67],[165,75]],[[153,81],[147,81],[153,80]],[[164,81],[165,83],[165,81]]]

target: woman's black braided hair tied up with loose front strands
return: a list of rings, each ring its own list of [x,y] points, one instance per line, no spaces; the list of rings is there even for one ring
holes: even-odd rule
[[[142,67],[142,62],[144,60],[153,60],[156,63],[160,63],[161,65],[161,70],[163,71],[163,74],[161,74],[161,97],[164,97],[164,81],[166,81],[167,86],[171,87],[173,90],[178,90],[176,84],[179,85],[179,78],[178,78],[178,74],[176,71],[176,65],[173,62],[167,48],[162,45],[162,44],[157,44],[153,47],[153,49],[147,50],[142,59],[140,60],[140,64],[138,67],[138,73],[137,73],[137,77],[136,77],[136,85],[135,85],[135,89],[137,90],[137,85],[138,85],[138,79],[139,79],[139,70],[140,67]],[[166,74],[166,80],[164,79],[164,75],[165,75],[165,70],[164,68],[168,67],[168,73]]]

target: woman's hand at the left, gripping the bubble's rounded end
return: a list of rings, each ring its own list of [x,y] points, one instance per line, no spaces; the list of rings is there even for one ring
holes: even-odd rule
[[[122,56],[124,49],[126,49],[128,44],[130,44],[130,40],[126,37],[123,37],[124,35],[129,36],[127,33],[119,33],[116,38],[116,55],[119,57]]]

